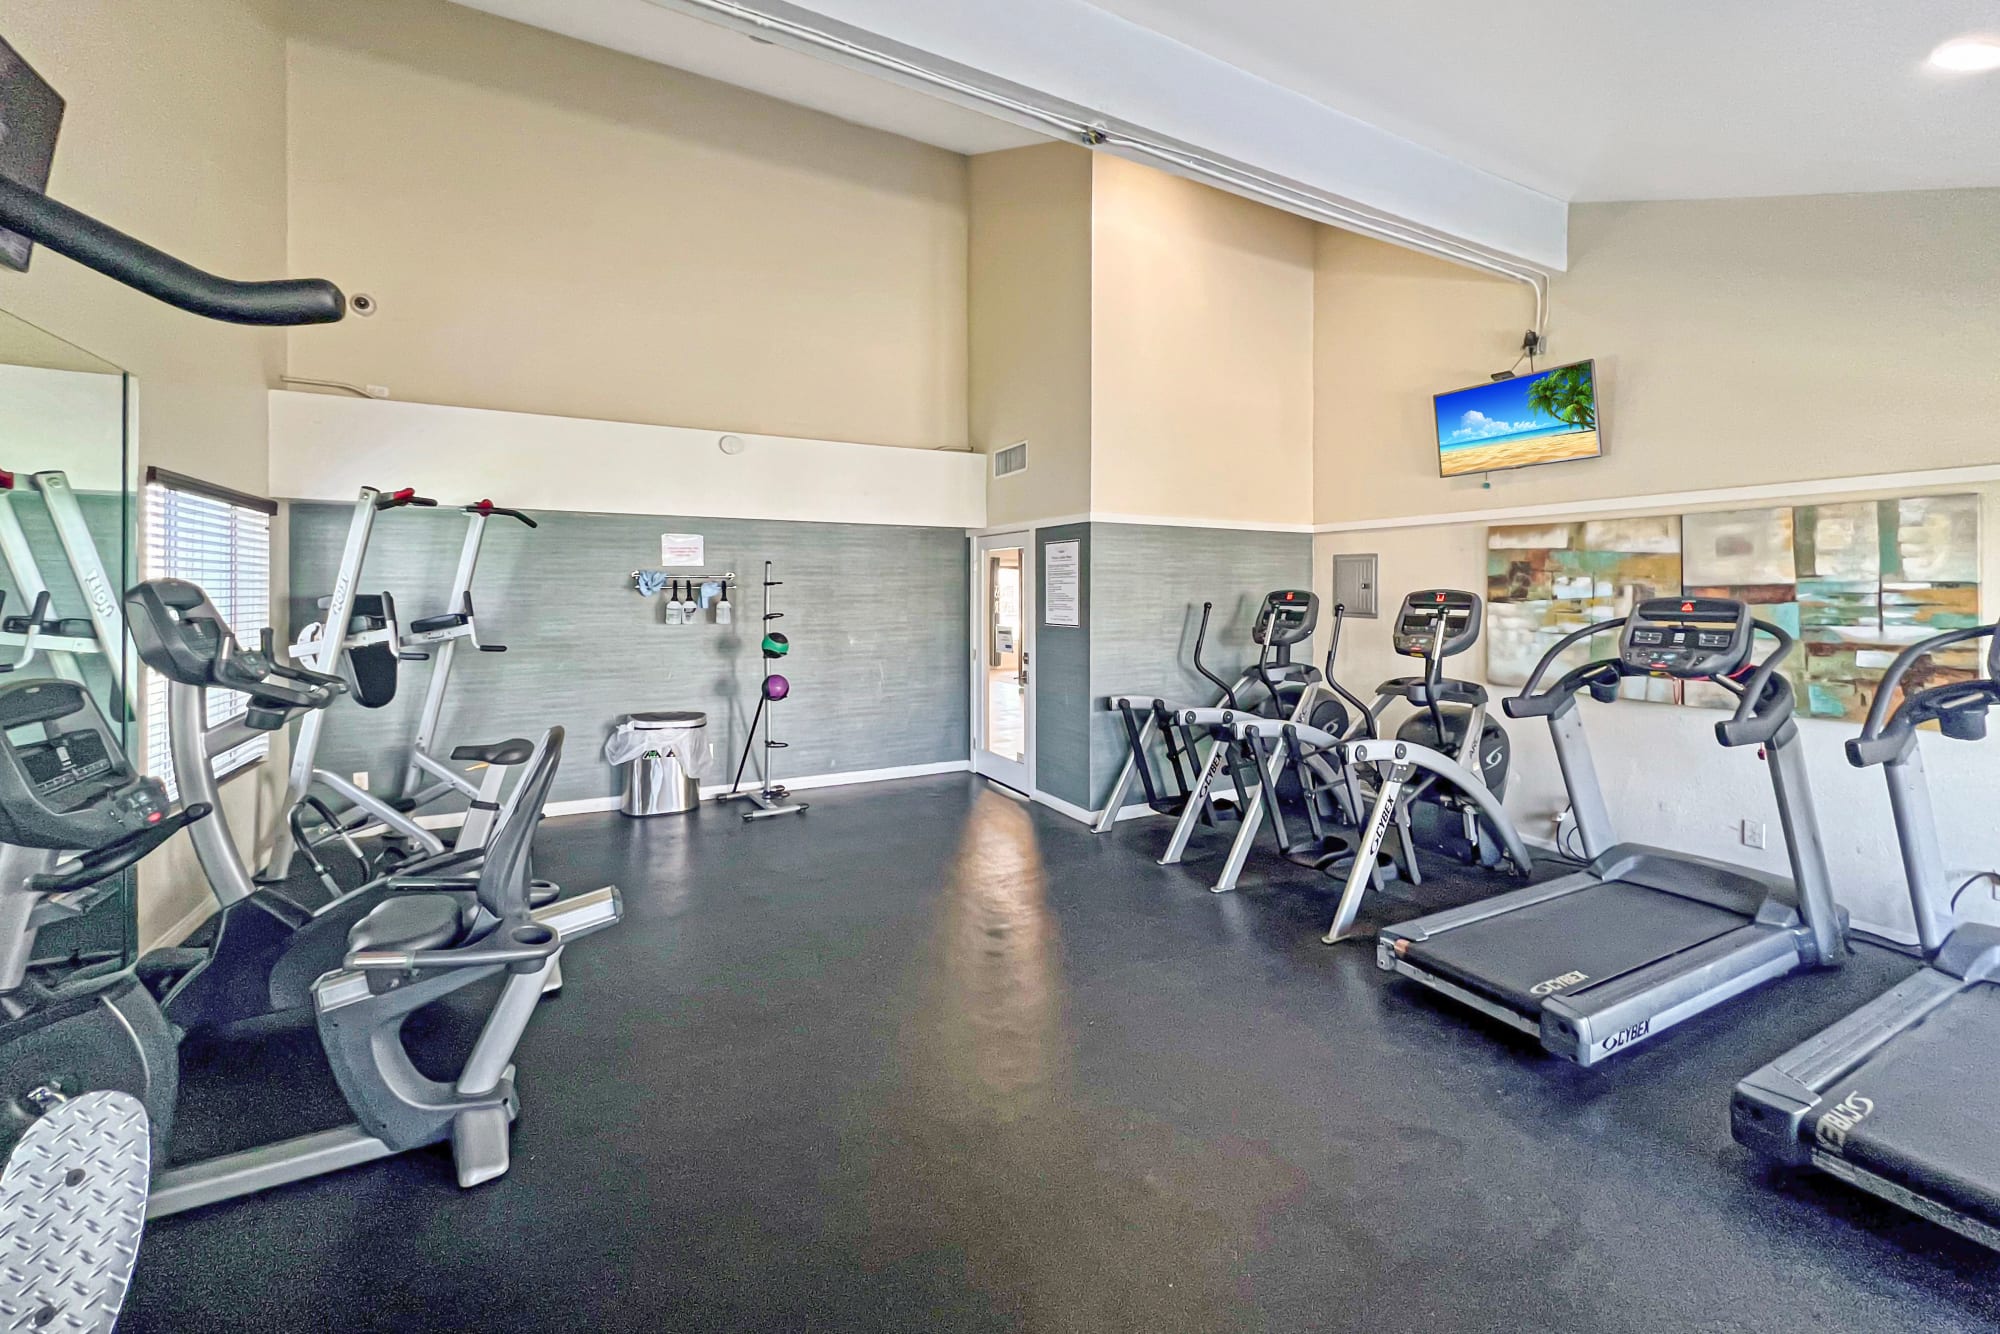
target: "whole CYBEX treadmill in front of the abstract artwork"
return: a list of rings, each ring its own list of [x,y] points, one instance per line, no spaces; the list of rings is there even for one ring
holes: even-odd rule
[[[1586,662],[1536,690],[1554,662],[1598,634],[1618,656]],[[1754,662],[1758,634],[1776,648]],[[1542,1038],[1594,1066],[1762,982],[1846,954],[1826,848],[1778,664],[1792,636],[1732,598],[1650,598],[1630,616],[1564,636],[1536,664],[1510,718],[1548,718],[1586,870],[1382,930],[1376,964]],[[1576,696],[1618,698],[1628,676],[1714,682],[1738,698],[1716,724],[1730,748],[1760,746],[1792,878],[1686,852],[1612,842],[1610,812]]]

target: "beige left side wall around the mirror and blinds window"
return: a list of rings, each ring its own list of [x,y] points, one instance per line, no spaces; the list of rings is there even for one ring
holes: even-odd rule
[[[194,264],[284,274],[284,40],[260,0],[10,6],[6,38],[68,98],[48,188]],[[136,378],[136,446],[226,486],[266,484],[264,398],[284,338],[214,324],[40,252],[0,306]],[[224,788],[238,828],[272,806],[276,764]],[[200,912],[186,842],[146,862],[140,938]]]

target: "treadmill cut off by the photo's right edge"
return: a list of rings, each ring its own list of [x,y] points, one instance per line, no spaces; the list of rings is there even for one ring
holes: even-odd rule
[[[1924,968],[1738,1084],[1730,1130],[1768,1158],[1814,1166],[2000,1250],[2000,1142],[1988,1116],[2000,1104],[2000,928],[1952,920],[1916,738],[1936,722],[1952,740],[1984,740],[1986,710],[2000,704],[1996,632],[1972,626],[1906,648],[1848,742],[1850,764],[1880,764],[1888,780]],[[1914,690],[1890,712],[1916,662],[1982,638],[1984,676]]]

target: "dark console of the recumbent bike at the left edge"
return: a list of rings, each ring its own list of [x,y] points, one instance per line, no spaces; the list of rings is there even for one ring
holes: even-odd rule
[[[132,768],[90,692],[68,680],[0,684],[0,842],[100,848],[166,812],[166,788]]]

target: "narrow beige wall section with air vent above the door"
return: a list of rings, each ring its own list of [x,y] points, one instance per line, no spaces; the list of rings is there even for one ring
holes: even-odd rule
[[[986,522],[1090,510],[1090,152],[1040,144],[972,158],[970,438],[1028,442]]]

